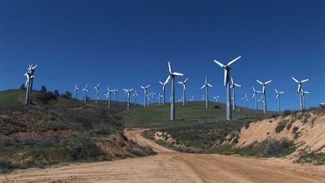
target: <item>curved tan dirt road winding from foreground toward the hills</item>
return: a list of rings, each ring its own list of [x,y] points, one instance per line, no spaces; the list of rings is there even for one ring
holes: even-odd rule
[[[126,131],[129,139],[159,155],[113,162],[72,164],[15,171],[0,182],[325,182],[325,166],[301,166],[281,159],[178,153],[144,139],[143,130]]]

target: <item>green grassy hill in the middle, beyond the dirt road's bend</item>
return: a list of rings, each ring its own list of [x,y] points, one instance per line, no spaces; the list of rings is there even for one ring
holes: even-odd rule
[[[126,114],[128,127],[153,128],[144,133],[153,138],[156,132],[165,133],[175,144],[192,146],[194,148],[208,149],[215,141],[223,139],[226,134],[240,130],[244,125],[253,121],[278,115],[277,112],[264,114],[263,111],[237,107],[238,111],[232,112],[233,121],[226,121],[226,105],[224,103],[210,102],[206,109],[205,102],[188,102],[183,106],[176,104],[176,120],[170,121],[170,105],[152,105],[140,107]],[[173,145],[175,145],[173,144]]]

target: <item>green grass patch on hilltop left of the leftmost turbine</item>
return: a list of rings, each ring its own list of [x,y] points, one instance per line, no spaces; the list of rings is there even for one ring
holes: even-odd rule
[[[0,105],[24,103],[26,91],[22,89],[8,89],[0,92]]]

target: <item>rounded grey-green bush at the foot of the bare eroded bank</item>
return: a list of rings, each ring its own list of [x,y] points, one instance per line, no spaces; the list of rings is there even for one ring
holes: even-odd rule
[[[285,150],[288,150],[290,148],[290,145],[292,144],[292,141],[290,141],[288,138],[281,139],[281,141],[272,140],[267,143],[267,146],[264,150],[264,154],[267,157],[277,157],[285,152]],[[292,153],[292,152],[291,152]],[[289,154],[291,154],[289,153]]]

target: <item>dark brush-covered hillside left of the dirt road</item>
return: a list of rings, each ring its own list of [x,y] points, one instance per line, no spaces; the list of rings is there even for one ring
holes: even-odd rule
[[[153,153],[124,136],[126,103],[113,101],[108,109],[106,101],[84,105],[33,92],[33,104],[24,105],[23,95],[0,92],[0,171]]]

